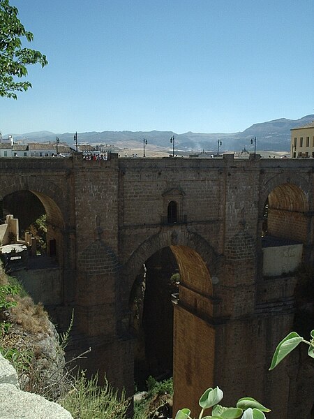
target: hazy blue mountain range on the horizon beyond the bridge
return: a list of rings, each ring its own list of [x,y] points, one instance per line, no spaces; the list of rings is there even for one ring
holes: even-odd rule
[[[182,151],[213,151],[217,149],[217,141],[221,140],[220,152],[252,149],[251,138],[256,137],[257,150],[289,151],[290,129],[308,124],[314,120],[314,115],[306,115],[300,119],[274,119],[273,121],[253,124],[239,133],[184,133],[172,131],[103,131],[77,133],[77,141],[81,144],[107,144],[116,147],[127,147],[128,142],[141,144],[146,138],[149,144],[171,149],[170,138],[175,135],[176,149]],[[55,141],[56,136],[61,142],[73,145],[74,133],[52,133],[40,131],[35,133],[13,134],[15,140],[27,138],[27,141]],[[6,137],[7,135],[4,135]]]

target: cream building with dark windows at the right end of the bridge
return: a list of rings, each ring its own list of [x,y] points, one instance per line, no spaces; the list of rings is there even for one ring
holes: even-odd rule
[[[314,121],[291,130],[290,156],[314,157]]]

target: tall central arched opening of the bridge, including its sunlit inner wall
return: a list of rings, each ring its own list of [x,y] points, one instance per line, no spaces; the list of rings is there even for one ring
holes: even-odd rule
[[[200,394],[214,385],[212,286],[204,260],[186,246],[160,249],[137,274],[130,307],[135,381],[141,387],[149,375],[173,374],[174,409],[188,405],[198,415]]]

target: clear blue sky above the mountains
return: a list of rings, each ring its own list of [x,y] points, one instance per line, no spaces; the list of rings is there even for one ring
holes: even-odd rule
[[[314,113],[313,0],[10,0],[33,89],[0,131],[237,132]]]

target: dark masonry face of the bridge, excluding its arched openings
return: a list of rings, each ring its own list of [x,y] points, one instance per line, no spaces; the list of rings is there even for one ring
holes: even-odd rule
[[[112,382],[132,391],[130,290],[147,258],[181,245],[200,255],[214,279],[215,384],[230,397],[238,396],[237,389],[239,397],[251,390],[264,404],[272,403],[272,388],[284,405],[287,377],[278,371],[270,385],[265,372],[278,340],[292,328],[294,311],[290,284],[279,292],[273,282],[263,298],[257,292],[264,288],[262,215],[277,186],[300,189],[308,205],[306,248],[313,249],[313,166],[313,159],[258,156],[244,161],[232,156],[83,161],[80,154],[0,159],[0,198],[24,189],[36,193],[59,229],[63,291],[57,322],[66,323],[75,309],[73,351],[93,346],[90,372],[108,371]],[[178,205],[174,225],[166,222],[171,200]],[[290,220],[292,231],[295,220]],[[313,250],[304,262],[313,266]],[[262,380],[255,379],[248,364],[255,365]],[[285,412],[276,418],[285,419]]]

